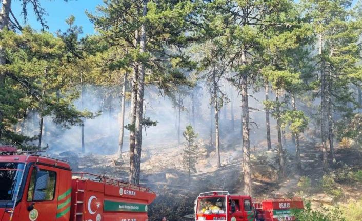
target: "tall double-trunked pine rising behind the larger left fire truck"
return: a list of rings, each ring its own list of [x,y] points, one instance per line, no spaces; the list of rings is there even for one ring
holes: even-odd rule
[[[157,82],[168,90],[169,83],[184,81],[180,70],[187,69],[188,58],[174,53],[187,44],[185,32],[192,26],[194,4],[188,1],[115,1],[98,7],[100,16],[88,14],[109,45],[127,50],[132,67],[130,129],[130,176],[139,184],[142,151],[143,100],[145,81]]]

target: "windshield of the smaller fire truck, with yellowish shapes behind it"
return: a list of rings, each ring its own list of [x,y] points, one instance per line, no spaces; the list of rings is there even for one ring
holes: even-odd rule
[[[204,213],[204,214],[226,213],[225,196],[201,198],[199,199],[197,208],[198,208],[197,213]]]

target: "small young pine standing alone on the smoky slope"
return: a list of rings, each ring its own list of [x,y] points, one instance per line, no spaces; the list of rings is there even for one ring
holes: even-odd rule
[[[195,139],[197,134],[193,130],[191,125],[186,127],[186,130],[182,134],[186,140],[184,152],[182,154],[182,163],[183,168],[189,175],[189,180],[191,178],[191,173],[197,173],[196,162],[197,162],[197,145],[195,144]]]

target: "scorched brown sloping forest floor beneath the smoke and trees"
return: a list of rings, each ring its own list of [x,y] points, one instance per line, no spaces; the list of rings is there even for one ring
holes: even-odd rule
[[[287,137],[288,138],[288,137]],[[287,139],[288,141],[288,139]],[[289,140],[290,141],[290,140]],[[273,141],[273,147],[276,146]],[[242,147],[238,143],[223,143],[220,149],[222,167],[217,169],[216,156],[209,140],[198,140],[199,158],[197,160],[197,173],[188,174],[182,167],[183,146],[177,143],[159,144],[143,149],[142,185],[154,190],[162,200],[163,195],[180,204],[184,210],[180,213],[190,214],[193,210],[193,201],[200,192],[213,190],[227,190],[231,194],[243,194],[241,164]],[[320,180],[324,175],[321,164],[320,145],[314,140],[301,139],[301,159],[303,172],[297,173],[295,164],[295,150],[291,142],[287,142],[287,178],[278,175],[276,150],[265,150],[265,141],[252,145],[251,162],[253,171],[253,191],[255,198],[288,198],[299,196],[312,202],[313,207],[321,203],[333,205],[336,202],[355,202],[362,198],[362,184],[338,180],[338,188],[343,190],[343,196],[338,198],[324,193],[320,188]],[[360,152],[353,148],[336,147],[336,163],[329,162],[331,171],[346,173],[344,168],[362,170]],[[116,160],[116,155],[88,154],[79,159],[79,170],[102,174],[110,178],[127,180],[129,171],[129,152],[123,153],[123,160]],[[311,187],[301,189],[298,186],[301,176],[311,180]],[[168,199],[170,200],[170,198]],[[177,206],[177,203],[175,205]],[[187,207],[187,208],[186,208]]]

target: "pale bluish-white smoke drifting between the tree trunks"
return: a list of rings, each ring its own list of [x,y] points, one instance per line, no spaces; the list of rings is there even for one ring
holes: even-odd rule
[[[241,145],[241,98],[238,90],[223,82],[221,85],[223,93],[229,99],[220,110],[220,142],[223,146]],[[92,112],[99,112],[100,115],[94,119],[84,120],[85,149],[87,153],[115,154],[118,150],[118,137],[120,129],[120,87],[104,87],[89,85],[85,87],[82,100],[79,98],[74,102],[78,109],[86,109]],[[192,93],[192,89],[190,89]],[[264,91],[253,92],[249,89],[249,106],[255,109],[264,110]],[[177,96],[178,97],[178,96]],[[194,112],[192,112],[191,94],[182,96],[183,108],[180,113],[180,141],[184,138],[182,132],[186,126],[193,124],[194,130],[198,133],[199,139],[210,140],[210,120],[213,122],[213,142],[215,141],[214,112],[210,112],[210,93],[205,87],[195,90]],[[274,99],[270,95],[270,99]],[[174,102],[160,93],[154,86],[148,86],[145,90],[145,116],[158,122],[157,126],[143,130],[143,148],[153,149],[157,147],[167,147],[177,145],[177,121],[178,110]],[[233,103],[234,130],[231,121],[231,103]],[[125,105],[125,125],[129,124],[130,102]],[[211,115],[212,114],[212,115]],[[195,119],[193,119],[193,117]],[[265,112],[251,110],[250,112],[250,145],[251,148],[257,146],[260,140],[266,139]],[[34,136],[39,133],[39,116],[37,113],[29,114],[25,122],[24,135]],[[276,135],[275,120],[271,117],[271,132]],[[52,122],[51,117],[45,117],[42,147],[49,146],[51,153],[64,151],[81,152],[81,127],[73,126],[70,129],[62,128]],[[129,131],[124,131],[123,150],[129,150]],[[34,140],[34,145],[37,144]]]

